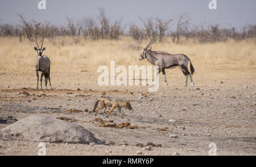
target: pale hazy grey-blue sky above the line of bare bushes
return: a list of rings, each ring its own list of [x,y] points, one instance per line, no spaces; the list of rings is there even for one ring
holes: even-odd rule
[[[210,10],[212,0],[46,0],[46,9],[39,10],[39,0],[1,0],[0,23],[19,23],[15,12],[37,22],[66,24],[65,16],[76,20],[96,17],[98,8],[105,8],[110,20],[122,18],[122,24],[142,25],[142,19],[159,17],[175,19],[175,15],[189,13],[191,25],[228,24],[242,28],[256,24],[256,0],[216,0],[217,9]],[[229,27],[230,28],[230,27]]]

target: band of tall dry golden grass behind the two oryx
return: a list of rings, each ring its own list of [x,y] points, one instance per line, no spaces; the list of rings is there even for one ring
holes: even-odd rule
[[[255,38],[243,41],[230,39],[226,42],[174,45],[170,38],[166,38],[164,42],[155,42],[152,50],[186,54],[196,66],[254,67],[256,65],[255,40]],[[143,41],[141,46],[145,47],[147,42]],[[118,41],[85,41],[81,37],[78,45],[73,44],[71,37],[58,37],[54,40],[46,38],[44,46],[47,49],[44,55],[51,59],[51,66],[56,71],[71,72],[72,69],[84,68],[96,70],[100,65],[109,65],[110,61],[115,61],[115,65],[149,65],[147,61],[138,61],[142,49],[123,50],[120,47],[131,43],[136,43],[131,37],[122,37]],[[0,37],[0,45],[1,71],[24,72],[34,68],[37,57],[34,50],[35,42],[24,38],[19,42],[18,37]]]

